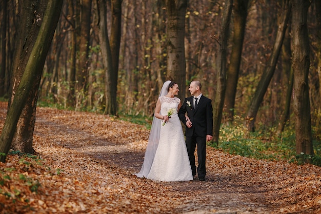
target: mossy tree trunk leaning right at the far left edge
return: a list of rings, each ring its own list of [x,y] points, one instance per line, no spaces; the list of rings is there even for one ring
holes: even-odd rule
[[[3,154],[0,157],[0,161],[2,162],[6,161],[6,155],[11,146],[19,115],[26,105],[30,105],[27,101],[31,101],[31,97],[34,97],[35,99],[33,100],[36,101],[37,94],[33,91],[34,85],[36,85],[36,82],[39,84],[41,79],[46,56],[59,20],[62,5],[62,0],[49,0],[45,14],[36,13],[38,16],[36,16],[35,24],[41,25],[41,27],[38,30],[39,33],[34,46],[31,47],[32,50],[30,50],[31,53],[28,63],[25,66],[21,82],[16,90],[10,109],[7,112],[7,118],[0,136],[0,153]],[[23,16],[23,18],[25,17]],[[36,105],[36,103],[33,105]],[[33,113],[35,115],[35,112]],[[33,127],[30,128],[33,129]]]

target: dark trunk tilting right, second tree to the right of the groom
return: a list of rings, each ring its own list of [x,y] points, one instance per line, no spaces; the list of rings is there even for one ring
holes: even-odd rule
[[[234,34],[230,64],[227,69],[226,93],[224,113],[226,121],[233,121],[235,94],[238,81],[239,65],[242,57],[246,18],[248,15],[249,0],[236,0],[234,2]]]

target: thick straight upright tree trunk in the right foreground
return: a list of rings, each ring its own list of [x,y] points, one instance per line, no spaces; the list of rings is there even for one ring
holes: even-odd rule
[[[307,25],[309,2],[292,0],[292,67],[294,71],[296,153],[313,154],[309,99],[310,44]]]

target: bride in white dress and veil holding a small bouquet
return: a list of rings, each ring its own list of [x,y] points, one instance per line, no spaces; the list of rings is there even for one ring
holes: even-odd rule
[[[166,81],[160,90],[145,159],[134,175],[156,181],[193,180],[182,125],[177,112],[182,105],[178,85]]]

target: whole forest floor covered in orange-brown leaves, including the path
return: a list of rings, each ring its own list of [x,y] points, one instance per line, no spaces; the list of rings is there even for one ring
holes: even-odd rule
[[[6,107],[0,103],[0,130]],[[106,115],[38,108],[36,156],[10,154],[0,163],[1,213],[321,213],[314,165],[208,147],[205,182],[136,178],[148,134]]]

